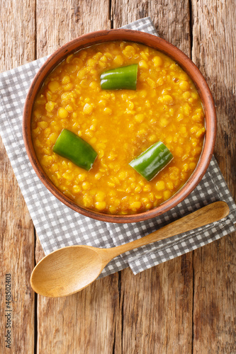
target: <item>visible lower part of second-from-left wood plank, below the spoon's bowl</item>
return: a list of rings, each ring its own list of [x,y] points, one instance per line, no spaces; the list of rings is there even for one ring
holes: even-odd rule
[[[39,295],[38,353],[121,353],[119,323],[117,274],[69,297]]]

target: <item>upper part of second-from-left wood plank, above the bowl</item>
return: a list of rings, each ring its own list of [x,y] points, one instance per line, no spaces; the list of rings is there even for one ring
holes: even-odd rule
[[[37,57],[50,55],[69,40],[111,28],[108,0],[37,1]]]

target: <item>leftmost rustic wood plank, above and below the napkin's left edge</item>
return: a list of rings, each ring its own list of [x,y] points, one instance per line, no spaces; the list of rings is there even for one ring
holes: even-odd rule
[[[35,0],[1,1],[0,72],[35,59]],[[34,292],[30,273],[34,266],[34,230],[26,203],[0,142],[0,352],[34,352]],[[5,275],[11,273],[11,349],[6,348]]]

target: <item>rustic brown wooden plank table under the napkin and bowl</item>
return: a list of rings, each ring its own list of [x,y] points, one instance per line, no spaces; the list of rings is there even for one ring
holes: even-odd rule
[[[227,3],[227,4],[226,4]],[[218,114],[215,157],[235,195],[234,0],[1,0],[0,71],[52,53],[94,30],[150,16],[159,35],[193,59]],[[236,353],[235,234],[134,276],[130,269],[61,299],[36,295],[43,257],[1,143],[0,353]],[[12,338],[5,348],[5,274]]]

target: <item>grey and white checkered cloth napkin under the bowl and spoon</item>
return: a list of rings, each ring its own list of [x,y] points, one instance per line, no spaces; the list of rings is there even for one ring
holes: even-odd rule
[[[141,30],[157,35],[150,18],[142,18],[123,28]],[[179,219],[210,202],[225,200],[230,215],[220,222],[186,232],[164,241],[127,252],[115,258],[103,270],[101,276],[115,273],[130,266],[134,274],[197,249],[234,231],[236,215],[232,200],[218,164],[213,158],[201,183],[189,198],[164,215],[145,222],[112,224],[79,215],[52,195],[30,165],[22,136],[22,113],[30,82],[45,62],[41,58],[0,76],[0,132],[9,155],[13,171],[26,200],[28,210],[46,254],[73,244],[97,247],[113,247],[154,232],[165,224]]]

